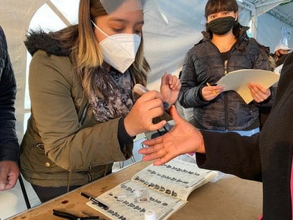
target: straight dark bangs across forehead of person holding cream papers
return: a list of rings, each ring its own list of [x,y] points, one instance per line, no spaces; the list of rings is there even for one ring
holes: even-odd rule
[[[204,10],[204,16],[208,17],[213,13],[219,13],[220,11],[238,11],[238,4],[236,0],[209,0],[206,3]]]

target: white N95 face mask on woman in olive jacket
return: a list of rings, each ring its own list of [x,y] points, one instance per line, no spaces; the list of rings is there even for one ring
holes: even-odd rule
[[[93,25],[107,38],[100,41],[104,61],[116,68],[117,71],[125,73],[135,61],[135,55],[140,47],[140,36],[137,34],[114,34],[108,36],[93,22]]]

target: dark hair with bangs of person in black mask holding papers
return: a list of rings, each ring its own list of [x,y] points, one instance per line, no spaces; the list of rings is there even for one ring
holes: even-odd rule
[[[206,3],[206,7],[204,9],[204,16],[207,17],[213,13],[219,13],[220,11],[234,11],[238,12],[238,4],[236,0],[209,0]],[[239,38],[239,32],[241,28],[241,24],[238,22],[238,18],[234,24],[233,27],[233,34],[235,38]],[[208,29],[207,23],[206,23],[206,31],[213,36],[213,33]]]

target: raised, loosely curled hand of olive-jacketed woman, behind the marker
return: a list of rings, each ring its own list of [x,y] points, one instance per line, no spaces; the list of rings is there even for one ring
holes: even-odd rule
[[[178,98],[180,88],[179,78],[165,72],[160,82],[160,93],[163,94],[163,101],[173,105]]]

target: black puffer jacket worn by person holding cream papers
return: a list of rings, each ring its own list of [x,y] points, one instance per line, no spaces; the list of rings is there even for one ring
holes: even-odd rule
[[[260,126],[259,107],[273,104],[274,91],[264,103],[246,104],[235,91],[224,91],[212,101],[203,101],[202,87],[215,84],[227,73],[239,69],[269,70],[269,52],[253,38],[247,27],[241,27],[239,40],[228,54],[227,68],[218,48],[211,43],[207,32],[204,38],[186,54],[181,75],[179,102],[193,108],[195,126],[216,131],[250,130]]]

